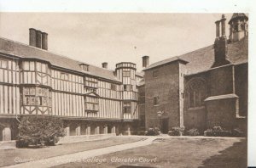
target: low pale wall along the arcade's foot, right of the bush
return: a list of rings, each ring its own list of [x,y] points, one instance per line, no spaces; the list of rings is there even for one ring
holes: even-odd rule
[[[60,141],[57,144],[101,140],[101,139],[107,139],[109,137],[115,137],[115,136],[116,136],[115,133],[108,133],[108,134],[61,137]]]

